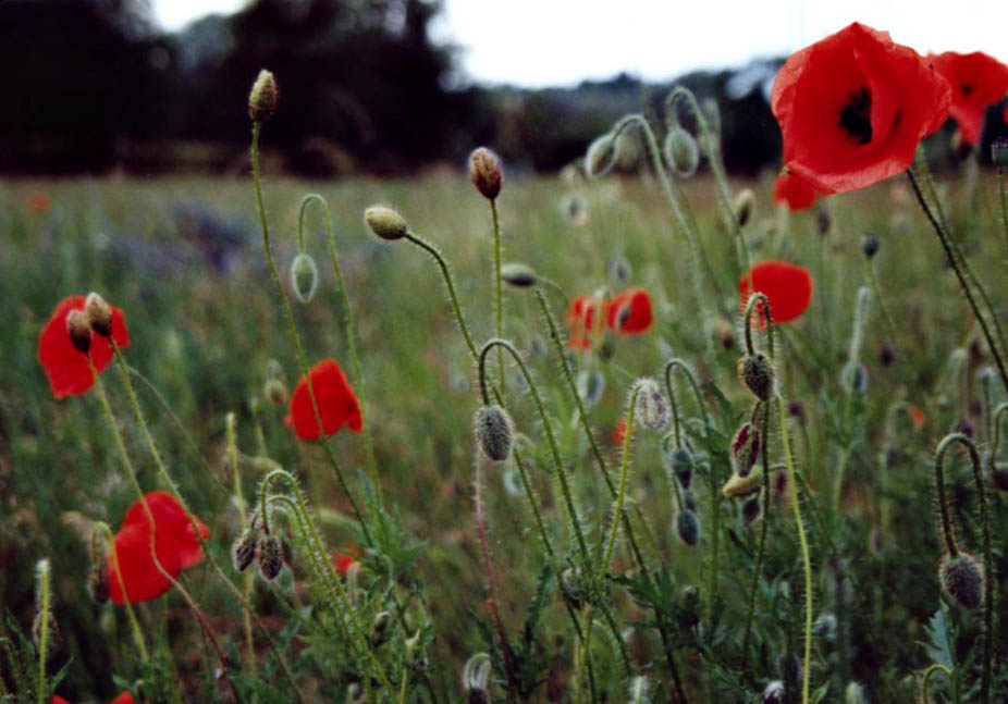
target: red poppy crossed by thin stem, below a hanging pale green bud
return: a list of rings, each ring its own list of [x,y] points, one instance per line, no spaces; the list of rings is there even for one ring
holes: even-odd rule
[[[334,359],[323,359],[312,367],[309,373],[315,400],[319,405],[319,413],[322,417],[322,431],[327,435],[332,435],[344,424],[349,423],[351,430],[359,433],[364,428],[360,402],[357,400],[357,395],[340,365]],[[294,427],[297,436],[302,440],[318,440],[319,424],[315,419],[308,382],[304,376],[291,394],[290,409],[291,412],[284,418],[284,422]]]

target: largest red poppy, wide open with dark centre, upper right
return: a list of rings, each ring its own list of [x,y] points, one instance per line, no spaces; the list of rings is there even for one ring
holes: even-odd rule
[[[771,91],[784,163],[824,194],[906,170],[949,100],[920,54],[857,22],[791,54]]]

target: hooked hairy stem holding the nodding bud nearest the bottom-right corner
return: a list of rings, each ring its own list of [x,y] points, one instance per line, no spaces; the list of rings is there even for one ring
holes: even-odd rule
[[[976,484],[976,495],[980,501],[980,524],[983,532],[983,561],[984,561],[984,654],[983,678],[980,686],[980,701],[983,704],[991,702],[991,657],[994,647],[994,557],[991,546],[991,521],[987,516],[987,493],[984,487],[983,472],[981,470],[980,455],[976,446],[962,433],[946,435],[935,450],[934,471],[935,486],[938,490],[938,506],[942,512],[942,531],[950,557],[956,557],[956,539],[952,534],[951,521],[948,516],[948,506],[945,501],[945,482],[943,464],[945,453],[952,445],[960,443],[966,446],[973,466],[973,482]]]

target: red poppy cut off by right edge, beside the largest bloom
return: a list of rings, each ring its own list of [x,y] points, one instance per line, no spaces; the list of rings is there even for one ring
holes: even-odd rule
[[[949,116],[959,123],[963,141],[975,145],[983,131],[984,110],[1008,90],[1008,66],[982,51],[946,51],[927,60],[951,86]]]

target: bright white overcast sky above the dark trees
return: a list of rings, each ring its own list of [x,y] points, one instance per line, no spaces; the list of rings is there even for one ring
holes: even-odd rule
[[[153,0],[177,29],[244,0]],[[1008,61],[1004,0],[444,0],[431,33],[463,47],[478,83],[573,85],[620,71],[664,79],[783,55],[853,21],[922,53],[986,51]],[[932,9],[933,8],[933,9]]]

